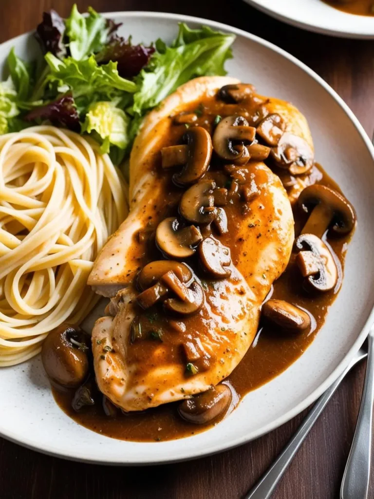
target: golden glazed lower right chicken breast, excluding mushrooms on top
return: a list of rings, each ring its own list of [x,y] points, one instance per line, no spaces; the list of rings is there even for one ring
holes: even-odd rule
[[[231,249],[230,278],[211,287],[203,282],[205,300],[197,315],[163,322],[162,341],[132,343],[131,323],[139,310],[138,291],[130,284],[117,315],[96,321],[92,345],[97,383],[125,411],[207,390],[231,373],[251,345],[261,304],[288,263],[294,235],[291,206],[278,177],[260,163],[250,173],[260,195],[251,213],[232,224],[230,238],[239,243]],[[206,370],[193,376],[186,372],[186,343],[209,361]]]

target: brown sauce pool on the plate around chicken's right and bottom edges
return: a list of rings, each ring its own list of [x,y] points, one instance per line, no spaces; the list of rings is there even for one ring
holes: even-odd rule
[[[318,164],[314,167],[320,180],[319,184],[325,185],[340,192],[337,184],[324,172]],[[295,212],[295,230],[302,226],[304,220]],[[333,292],[311,296],[302,289],[298,269],[291,260],[286,271],[275,281],[269,298],[279,298],[290,303],[295,303],[308,310],[312,316],[309,330],[302,333],[284,335],[276,327],[261,325],[256,338],[235,370],[226,378],[225,384],[229,386],[233,397],[224,418],[238,405],[248,392],[259,388],[274,377],[281,374],[295,362],[314,340],[316,334],[325,322],[328,310],[339,291],[342,278],[347,244],[352,234],[344,238],[330,241],[331,249],[340,262],[339,281]],[[96,389],[95,389],[96,390]],[[105,414],[102,404],[102,394],[99,390],[94,393],[97,402],[94,406],[84,407],[80,412],[72,409],[74,393],[61,392],[53,389],[53,395],[61,409],[80,425],[108,437],[138,441],[159,442],[184,438],[195,435],[216,425],[222,418],[217,418],[213,423],[195,425],[183,420],[178,414],[179,402],[166,404],[145,412],[124,414],[118,411],[114,417]]]

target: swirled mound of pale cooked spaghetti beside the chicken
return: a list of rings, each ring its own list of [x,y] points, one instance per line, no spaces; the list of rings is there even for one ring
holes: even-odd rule
[[[127,215],[124,187],[90,138],[52,126],[0,137],[0,366],[97,303],[86,281]]]

